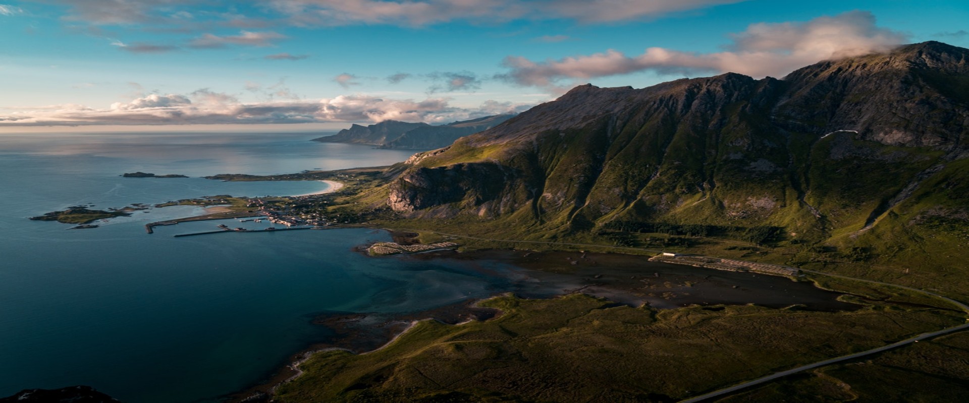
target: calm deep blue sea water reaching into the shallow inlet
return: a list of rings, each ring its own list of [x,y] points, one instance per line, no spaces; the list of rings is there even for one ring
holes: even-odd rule
[[[389,237],[366,229],[172,237],[220,223],[199,221],[145,233],[146,222],[201,213],[184,206],[84,230],[26,219],[79,204],[106,209],[214,194],[302,194],[326,185],[198,177],[388,165],[411,155],[308,141],[313,137],[0,134],[0,397],[89,385],[131,403],[216,401],[327,339],[325,327],[311,324],[321,312],[417,312],[504,291],[542,297],[588,285],[585,280],[626,278],[626,267],[638,274],[649,265],[596,258],[618,271],[602,277],[604,268],[596,266],[569,275],[531,272],[507,253],[470,260],[367,258],[351,248]],[[196,178],[119,176],[134,171]],[[551,259],[573,268],[562,256]],[[649,272],[709,282],[690,290],[705,293],[691,297],[702,302],[783,305],[812,293],[817,301],[833,299],[778,277],[660,266]]]

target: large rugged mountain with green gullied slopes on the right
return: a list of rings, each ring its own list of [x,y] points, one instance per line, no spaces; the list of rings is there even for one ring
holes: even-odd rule
[[[918,43],[784,79],[578,86],[411,158],[389,204],[408,216],[516,214],[548,227],[630,220],[828,233],[861,229],[924,196],[932,178],[964,174],[949,162],[969,155],[967,135],[969,50]]]

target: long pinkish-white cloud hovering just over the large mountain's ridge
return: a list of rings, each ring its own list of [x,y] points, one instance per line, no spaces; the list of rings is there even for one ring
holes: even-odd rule
[[[758,23],[732,35],[727,51],[682,52],[650,47],[639,56],[617,50],[534,62],[507,57],[509,72],[500,77],[519,85],[552,86],[562,80],[585,80],[646,70],[658,72],[739,72],[755,77],[783,76],[822,60],[891,49],[904,34],[879,28],[874,15],[849,12],[807,22]]]

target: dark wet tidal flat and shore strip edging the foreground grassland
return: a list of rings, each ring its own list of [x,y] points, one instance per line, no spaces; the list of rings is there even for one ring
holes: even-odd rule
[[[817,311],[861,308],[858,304],[837,301],[842,294],[814,287],[810,282],[650,262],[647,256],[502,249],[463,253],[445,250],[397,258],[417,261],[453,259],[468,270],[493,280],[494,295],[510,292],[527,299],[583,293],[617,303],[647,304],[658,309],[693,304],[748,303],[773,308],[797,305],[800,309]],[[319,312],[311,320],[332,331],[328,339],[292,356],[288,360],[290,365],[279,368],[261,385],[228,396],[229,401],[268,401],[269,392],[275,385],[297,375],[292,363],[304,360],[313,352],[334,348],[372,351],[387,344],[417,320],[431,318],[457,324],[487,320],[500,314],[496,309],[475,306],[476,302],[467,300],[417,312]]]

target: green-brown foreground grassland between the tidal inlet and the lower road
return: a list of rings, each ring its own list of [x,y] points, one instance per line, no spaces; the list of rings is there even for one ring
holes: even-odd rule
[[[481,303],[486,322],[422,321],[383,349],[319,353],[281,402],[672,401],[964,321],[868,302],[854,312],[760,306],[672,310],[584,295]]]

